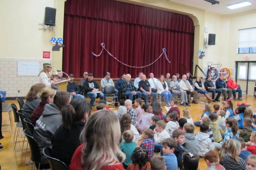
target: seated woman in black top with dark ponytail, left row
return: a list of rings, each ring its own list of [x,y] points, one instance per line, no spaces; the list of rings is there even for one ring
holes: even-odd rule
[[[81,144],[79,135],[90,115],[90,103],[82,98],[74,98],[62,111],[63,124],[52,138],[52,153],[68,167],[76,148]]]

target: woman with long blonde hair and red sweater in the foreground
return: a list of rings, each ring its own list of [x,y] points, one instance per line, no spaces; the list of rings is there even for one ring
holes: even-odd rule
[[[116,153],[124,161],[118,147],[121,137],[119,119],[106,109],[90,115],[80,135],[82,144],[73,154],[70,170],[124,170]]]

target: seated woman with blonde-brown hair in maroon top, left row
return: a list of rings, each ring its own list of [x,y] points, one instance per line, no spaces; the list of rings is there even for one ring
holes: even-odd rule
[[[43,113],[43,108],[46,104],[53,103],[53,98],[55,96],[56,92],[54,89],[51,89],[50,87],[45,87],[40,93],[41,102],[36,107],[36,109],[33,111],[30,122],[32,124],[36,124],[36,120],[40,118],[40,116]]]

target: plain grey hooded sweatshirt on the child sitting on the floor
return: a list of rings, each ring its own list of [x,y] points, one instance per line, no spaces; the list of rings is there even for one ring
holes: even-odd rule
[[[183,146],[184,146],[184,152],[190,152],[195,155],[198,155],[199,142],[198,142],[198,138],[194,133],[185,133],[185,142]]]

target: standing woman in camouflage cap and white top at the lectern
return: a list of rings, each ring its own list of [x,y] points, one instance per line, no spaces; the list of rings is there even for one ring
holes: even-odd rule
[[[51,72],[52,66],[49,63],[43,63],[43,69],[39,73],[39,83],[43,83],[46,87],[51,87],[53,82],[58,82],[56,78],[51,81],[51,76],[49,72]]]

